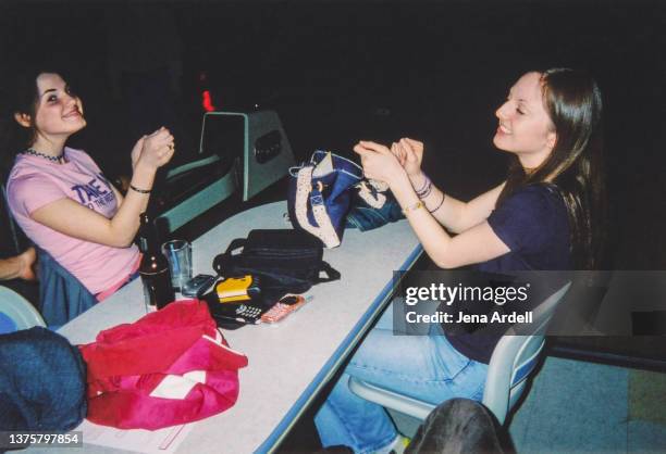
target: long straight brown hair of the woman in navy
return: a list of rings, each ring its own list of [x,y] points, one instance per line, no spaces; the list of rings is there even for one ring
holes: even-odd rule
[[[557,136],[555,147],[529,174],[513,156],[497,204],[527,185],[557,189],[569,217],[574,265],[577,269],[595,269],[602,262],[606,215],[601,90],[582,71],[552,68],[540,73],[543,101]]]

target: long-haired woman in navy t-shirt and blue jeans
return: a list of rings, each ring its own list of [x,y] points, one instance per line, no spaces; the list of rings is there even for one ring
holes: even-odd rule
[[[596,83],[567,68],[527,73],[496,116],[493,143],[513,154],[508,177],[467,203],[432,185],[421,171],[423,144],[417,140],[404,138],[390,148],[360,141],[354,150],[368,178],[388,184],[442,268],[594,268],[604,196]],[[316,416],[323,445],[387,453],[400,442],[384,408],[349,391],[349,376],[433,404],[456,396],[481,400],[496,342],[474,345],[442,333],[393,336],[386,311]]]

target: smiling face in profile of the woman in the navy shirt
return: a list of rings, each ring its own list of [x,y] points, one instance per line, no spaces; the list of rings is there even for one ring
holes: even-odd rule
[[[495,115],[499,125],[493,143],[518,155],[526,168],[539,167],[551,154],[557,136],[543,102],[540,73],[527,73],[514,85]]]

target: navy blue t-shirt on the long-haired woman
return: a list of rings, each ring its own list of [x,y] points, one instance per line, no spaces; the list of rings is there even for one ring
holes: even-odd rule
[[[556,189],[546,185],[519,189],[491,213],[488,223],[510,251],[477,265],[477,269],[486,273],[571,269],[569,219]],[[499,338],[447,336],[460,353],[485,364]]]

